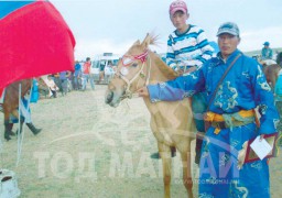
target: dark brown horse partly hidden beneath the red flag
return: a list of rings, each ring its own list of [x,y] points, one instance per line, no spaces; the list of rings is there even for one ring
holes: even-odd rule
[[[15,81],[10,84],[6,88],[4,101],[2,103],[3,113],[4,113],[4,139],[7,141],[11,140],[10,135],[13,135],[10,124],[9,118],[10,114],[19,118],[18,107],[19,107],[19,85],[21,84],[21,97],[23,97],[31,88],[32,79],[23,79],[20,81]]]

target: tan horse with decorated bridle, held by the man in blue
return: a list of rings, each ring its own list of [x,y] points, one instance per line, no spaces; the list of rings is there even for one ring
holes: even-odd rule
[[[144,41],[137,41],[118,64],[117,74],[108,85],[106,103],[117,107],[124,98],[130,98],[148,84],[166,81],[177,77],[155,53],[148,50],[155,37],[147,35]],[[183,163],[183,183],[188,196],[193,197],[191,174],[191,141],[196,128],[193,121],[191,99],[182,101],[162,101],[152,103],[144,98],[151,114],[151,130],[158,141],[159,153],[163,163],[163,182],[165,197],[170,197],[171,184],[171,146],[181,153]]]

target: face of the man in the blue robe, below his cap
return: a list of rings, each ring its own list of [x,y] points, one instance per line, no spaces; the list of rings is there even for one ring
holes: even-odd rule
[[[227,58],[232,52],[236,51],[237,45],[240,43],[240,37],[223,33],[218,36],[218,46],[221,52],[223,58]]]

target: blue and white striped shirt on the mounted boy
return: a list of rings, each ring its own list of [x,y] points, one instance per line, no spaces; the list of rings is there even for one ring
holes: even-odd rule
[[[195,25],[189,25],[183,34],[175,30],[169,36],[166,64],[174,70],[184,67],[202,65],[212,57],[214,48],[209,45],[205,32]]]

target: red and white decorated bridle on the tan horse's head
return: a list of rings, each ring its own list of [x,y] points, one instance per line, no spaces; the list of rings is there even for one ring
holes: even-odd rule
[[[122,74],[121,69],[119,69],[117,73],[116,73],[116,76],[123,79],[127,84],[127,87],[126,87],[126,91],[124,91],[124,95],[121,96],[121,99],[124,99],[124,98],[132,98],[132,97],[137,97],[137,94],[130,91],[130,87],[132,85],[133,81],[135,81],[135,79],[140,76],[141,78],[144,78],[145,75],[144,75],[144,66],[145,65],[149,65],[149,69],[148,69],[148,75],[147,75],[147,79],[145,79],[145,84],[144,86],[149,85],[149,80],[150,80],[150,76],[151,76],[151,58],[149,56],[149,51],[147,50],[145,52],[143,52],[142,54],[139,54],[139,55],[123,55],[122,58],[121,58],[121,63],[122,63],[122,67],[128,67],[130,66],[134,61],[140,61],[142,63],[142,66],[141,68],[138,70],[138,73],[131,78],[131,79],[128,79],[124,75]],[[148,64],[149,62],[149,64]],[[138,85],[138,84],[137,84]]]

